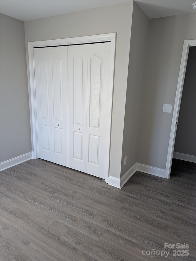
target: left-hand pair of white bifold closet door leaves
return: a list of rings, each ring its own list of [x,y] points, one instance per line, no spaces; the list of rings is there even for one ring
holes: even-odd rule
[[[35,48],[38,157],[68,166],[67,46]]]

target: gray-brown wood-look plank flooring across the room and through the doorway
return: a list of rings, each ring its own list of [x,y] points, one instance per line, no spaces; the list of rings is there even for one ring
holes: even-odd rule
[[[73,169],[29,160],[1,172],[1,261],[195,260],[196,164],[171,178],[136,172],[122,189]],[[188,256],[142,255],[164,243]]]

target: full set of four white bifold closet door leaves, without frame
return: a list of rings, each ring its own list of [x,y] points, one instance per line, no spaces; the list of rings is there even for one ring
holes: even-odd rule
[[[110,42],[34,48],[38,157],[108,171]]]

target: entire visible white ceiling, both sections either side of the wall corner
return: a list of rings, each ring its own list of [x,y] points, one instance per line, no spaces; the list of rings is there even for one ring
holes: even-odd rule
[[[1,0],[0,11],[22,21],[108,6],[127,0]],[[196,0],[135,0],[149,18],[196,12]]]

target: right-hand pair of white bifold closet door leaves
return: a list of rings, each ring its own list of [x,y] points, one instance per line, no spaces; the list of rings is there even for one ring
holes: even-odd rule
[[[110,45],[68,46],[68,166],[101,178],[108,167]]]

